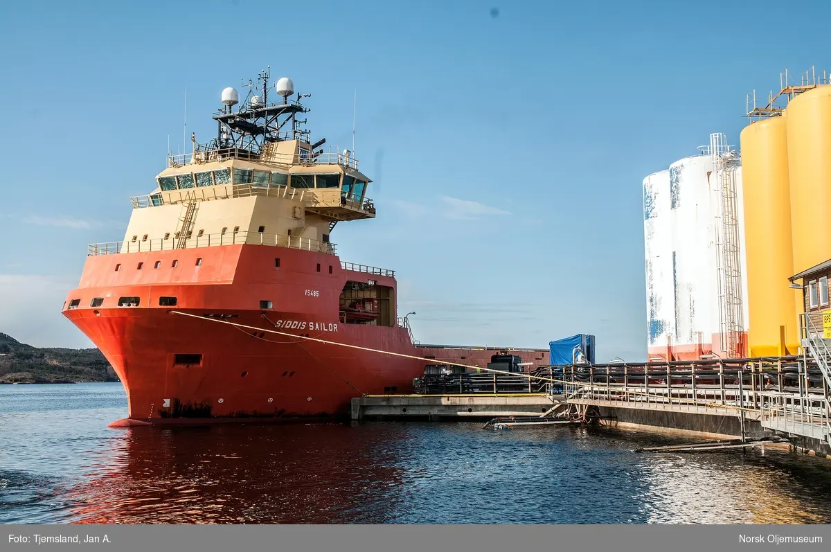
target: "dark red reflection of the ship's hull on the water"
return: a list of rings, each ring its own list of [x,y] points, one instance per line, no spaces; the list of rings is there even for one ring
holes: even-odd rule
[[[71,520],[385,523],[400,482],[385,436],[371,428],[214,426],[128,431],[117,460],[120,470],[71,490],[76,501]]]

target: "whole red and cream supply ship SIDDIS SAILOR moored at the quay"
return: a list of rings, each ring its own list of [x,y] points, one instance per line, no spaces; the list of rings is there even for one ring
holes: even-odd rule
[[[411,390],[425,365],[548,364],[543,349],[415,342],[395,272],[342,262],[330,239],[375,217],[371,180],[302,130],[310,95],[290,79],[248,86],[242,102],[222,92],[213,140],[169,152],[124,239],[91,244],[66,296],[125,387],[126,424],[339,416],[352,397]]]

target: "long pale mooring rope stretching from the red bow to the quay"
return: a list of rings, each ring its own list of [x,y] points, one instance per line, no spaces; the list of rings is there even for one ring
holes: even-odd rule
[[[228,324],[229,326],[233,326],[235,328],[248,328],[249,330],[256,330],[258,332],[274,333],[274,334],[282,335],[284,337],[292,338],[292,339],[301,339],[301,340],[305,340],[305,341],[313,341],[313,342],[317,342],[317,343],[324,343],[326,345],[337,345],[338,347],[348,347],[348,348],[351,348],[351,349],[357,349],[359,351],[378,352],[378,353],[381,353],[381,354],[391,355],[393,357],[411,358],[412,360],[417,360],[417,361],[420,361],[420,362],[430,362],[430,361],[435,360],[435,359],[432,359],[432,358],[416,357],[414,355],[408,355],[408,354],[403,353],[403,352],[383,351],[381,349],[373,349],[371,347],[361,347],[360,345],[350,345],[349,343],[338,343],[337,341],[329,341],[327,339],[312,338],[312,337],[306,337],[306,336],[303,336],[303,335],[296,335],[294,333],[280,332],[279,330],[271,330],[271,329],[268,329],[268,328],[258,328],[256,326],[248,326],[246,324],[229,322],[228,320],[225,320],[224,318],[208,318],[208,317],[204,317],[204,316],[199,316],[198,314],[183,313],[181,311],[175,311],[175,310],[168,311],[168,313],[180,314],[182,316],[188,316],[190,318],[198,318],[199,320],[208,320],[209,322],[224,323],[224,324]],[[268,320],[268,318],[266,318],[266,319]],[[271,322],[271,321],[269,320],[269,322]],[[268,340],[266,339],[264,341],[268,341]],[[269,343],[281,343],[281,342],[269,342]],[[283,342],[283,343],[285,343],[285,342]],[[296,343],[297,345],[300,345],[302,347],[302,343],[299,343],[297,341],[288,342],[288,343]],[[308,351],[308,349],[306,347],[303,347],[303,349]],[[452,362],[452,361],[444,361],[444,360],[436,361],[436,362],[440,362],[441,364],[449,365],[449,366],[458,366],[458,367],[463,367],[463,368],[475,368],[477,370],[484,370],[485,372],[493,372],[495,374],[507,374],[509,376],[527,377],[529,379],[535,379],[535,380],[538,380],[538,381],[541,381],[541,382],[562,383],[564,385],[583,385],[583,386],[588,386],[588,387],[594,387],[593,382],[590,382],[588,384],[579,383],[579,382],[569,382],[568,380],[559,380],[559,379],[554,379],[553,377],[534,376],[534,374],[526,374],[526,373],[522,373],[522,372],[505,372],[504,370],[495,370],[494,368],[480,367],[480,366],[470,366],[470,364],[461,364],[460,362]],[[344,381],[346,382],[346,380],[344,380]],[[350,384],[350,386],[352,387],[352,384]],[[598,386],[598,387],[600,387],[600,386]],[[605,388],[611,389],[611,387],[605,387]],[[356,391],[358,391],[358,390],[356,389]],[[360,391],[358,391],[358,392],[360,392]],[[643,396],[643,397],[653,397],[653,398],[658,397],[656,395],[656,393],[638,392],[638,391],[632,391],[630,389],[627,389],[627,390],[622,391],[622,392],[625,392],[629,395],[640,395],[640,396]],[[363,393],[361,393],[361,394],[363,394]],[[669,398],[669,397],[667,397],[667,398]],[[616,401],[609,400],[607,402],[616,402]],[[758,410],[754,409],[754,408],[738,407],[738,406],[735,406],[735,405],[720,404],[718,402],[708,402],[708,401],[706,401],[706,399],[700,400],[700,399],[695,398],[695,397],[691,398],[691,399],[686,399],[686,398],[681,399],[681,398],[679,398],[676,401],[676,403],[686,403],[686,404],[692,403],[692,404],[695,404],[695,405],[703,404],[705,407],[711,407],[711,408],[728,408],[728,409],[734,409],[734,410],[741,410],[741,411],[745,411],[745,412],[758,412]]]

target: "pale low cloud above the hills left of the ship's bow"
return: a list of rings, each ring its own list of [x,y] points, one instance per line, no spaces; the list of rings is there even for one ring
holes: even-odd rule
[[[0,274],[0,332],[35,347],[92,347],[61,314],[78,277]]]

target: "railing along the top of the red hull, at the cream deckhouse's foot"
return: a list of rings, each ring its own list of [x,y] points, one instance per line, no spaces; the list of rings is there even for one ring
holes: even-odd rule
[[[104,244],[89,244],[86,246],[87,256],[107,254],[144,253],[150,251],[170,251],[176,248],[178,238],[170,235],[168,238],[135,239],[135,241],[107,242]],[[260,232],[226,232],[225,234],[191,235],[184,242],[184,249],[197,247],[213,247],[218,245],[271,245],[317,251],[318,253],[336,254],[337,246],[317,239],[289,236],[288,234],[263,234]]]

